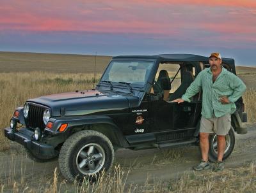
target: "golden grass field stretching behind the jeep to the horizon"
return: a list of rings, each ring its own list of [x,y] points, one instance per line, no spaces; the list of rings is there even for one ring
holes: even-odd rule
[[[111,57],[98,56],[96,78]],[[68,54],[31,54],[0,52],[0,127],[7,127],[17,106],[23,106],[27,99],[59,92],[92,89],[95,56]],[[170,69],[171,70],[171,69]],[[6,73],[4,73],[6,71]],[[244,103],[248,112],[248,121],[256,120],[256,86],[254,80],[256,68],[238,67],[237,74],[246,83],[248,90],[244,94]],[[96,82],[97,82],[96,80]],[[8,149],[9,141],[0,132],[0,150]]]

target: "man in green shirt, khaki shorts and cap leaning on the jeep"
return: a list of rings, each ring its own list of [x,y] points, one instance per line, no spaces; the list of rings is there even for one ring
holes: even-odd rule
[[[220,53],[212,53],[209,57],[210,68],[201,71],[186,90],[181,99],[173,102],[190,102],[192,96],[203,90],[202,118],[200,121],[200,148],[202,161],[195,170],[211,169],[208,161],[209,134],[217,134],[218,161],[214,171],[224,169],[222,162],[225,152],[225,136],[231,127],[230,114],[236,111],[235,102],[246,89],[244,83],[233,73],[221,66]]]

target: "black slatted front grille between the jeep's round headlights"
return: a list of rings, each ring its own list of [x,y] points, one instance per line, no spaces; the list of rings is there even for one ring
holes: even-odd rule
[[[45,107],[38,106],[36,104],[29,103],[29,113],[28,118],[26,119],[26,124],[28,127],[36,128],[39,127],[40,129],[45,128],[43,114],[44,114]]]

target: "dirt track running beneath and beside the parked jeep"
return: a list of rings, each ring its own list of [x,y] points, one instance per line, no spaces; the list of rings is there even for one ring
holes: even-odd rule
[[[234,152],[225,161],[225,167],[236,168],[246,162],[256,160],[256,124],[248,123],[248,133],[236,134]],[[0,153],[1,180],[26,175],[47,181],[52,177],[54,168],[58,167],[58,161],[36,163],[21,154],[22,148],[17,143],[12,143],[8,152]],[[124,171],[129,171],[127,183],[152,182],[154,178],[168,181],[170,178],[178,178],[184,172],[193,172],[191,168],[198,163],[200,155],[198,147],[172,148],[167,150],[118,150],[115,164],[120,164]],[[60,180],[64,178],[60,175]],[[46,182],[45,181],[45,182]]]

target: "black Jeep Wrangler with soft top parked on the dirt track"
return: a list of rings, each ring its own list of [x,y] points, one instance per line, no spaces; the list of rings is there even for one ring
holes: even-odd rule
[[[234,59],[224,58],[223,67],[236,75]],[[29,99],[15,110],[4,134],[24,145],[35,161],[58,157],[60,171],[69,181],[108,171],[118,148],[196,145],[202,91],[191,103],[172,101],[204,68],[209,68],[209,59],[200,55],[113,57],[95,89]],[[234,148],[234,132],[246,133],[242,97],[236,106],[224,159]],[[216,135],[209,142],[209,160],[215,161]]]

